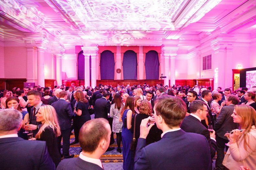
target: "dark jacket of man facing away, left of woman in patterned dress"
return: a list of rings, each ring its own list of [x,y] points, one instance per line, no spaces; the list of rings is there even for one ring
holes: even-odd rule
[[[110,102],[102,97],[96,100],[94,110],[95,118],[108,119],[108,113],[110,112]]]

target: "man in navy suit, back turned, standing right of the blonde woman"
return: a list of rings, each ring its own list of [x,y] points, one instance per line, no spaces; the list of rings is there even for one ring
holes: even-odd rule
[[[59,93],[60,99],[52,104],[56,110],[58,122],[60,126],[61,135],[58,137],[58,149],[60,152],[61,139],[63,138],[63,155],[64,158],[73,158],[74,155],[69,155],[69,140],[71,133],[71,119],[73,116],[73,110],[67,100],[67,92],[61,91]]]

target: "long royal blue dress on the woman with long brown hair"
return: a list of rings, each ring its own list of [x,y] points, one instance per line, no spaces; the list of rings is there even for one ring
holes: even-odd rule
[[[127,124],[127,123],[124,123],[124,119],[126,118],[128,110],[130,109],[126,109],[123,112],[123,117],[122,117],[123,124]],[[124,127],[124,126],[122,127],[121,134],[122,134],[122,144],[123,144],[123,169],[133,170],[134,157],[133,157],[132,151],[130,150],[133,134],[131,132],[131,129],[127,129],[127,127]]]

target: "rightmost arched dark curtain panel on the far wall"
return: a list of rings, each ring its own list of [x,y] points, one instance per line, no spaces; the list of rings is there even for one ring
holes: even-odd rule
[[[146,53],[145,71],[146,71],[147,80],[158,79],[159,59],[158,59],[158,53],[154,50],[151,50]]]

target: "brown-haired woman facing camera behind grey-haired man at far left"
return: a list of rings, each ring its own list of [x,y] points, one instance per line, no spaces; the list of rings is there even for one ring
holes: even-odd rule
[[[18,111],[21,112],[21,114],[22,114],[22,126],[21,126],[21,129],[18,131],[18,136],[23,138],[23,139],[28,139],[27,134],[23,133],[23,132],[25,131],[24,126],[25,126],[26,120],[29,121],[29,112],[21,109],[20,100],[19,100],[18,97],[10,96],[6,99],[5,103],[6,103],[6,109],[11,109],[11,107],[13,107],[13,109],[18,110]]]

